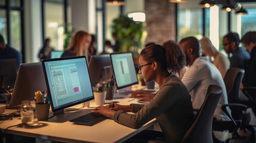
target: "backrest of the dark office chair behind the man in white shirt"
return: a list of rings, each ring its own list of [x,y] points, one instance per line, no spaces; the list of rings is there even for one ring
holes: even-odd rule
[[[224,83],[227,89],[227,99],[229,103],[239,103],[239,89],[245,70],[230,67],[224,76]]]

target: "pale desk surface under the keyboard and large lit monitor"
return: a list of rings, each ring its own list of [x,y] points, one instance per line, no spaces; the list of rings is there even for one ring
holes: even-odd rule
[[[116,95],[115,95],[116,97]],[[120,97],[120,95],[117,97]],[[126,95],[128,97],[128,95]],[[124,98],[113,101],[119,101],[119,104],[137,103],[137,100],[132,98]],[[108,102],[106,100],[106,102]],[[90,107],[96,106],[94,101],[90,102]],[[81,107],[81,104],[75,108]],[[71,107],[74,108],[74,107]],[[153,119],[139,129],[131,129],[123,125],[119,125],[112,119],[104,120],[94,126],[75,125],[69,122],[70,119],[82,116],[89,113],[91,109],[84,109],[75,112],[66,112],[49,119],[48,121],[40,121],[39,126],[21,126],[13,127],[7,130],[7,133],[14,135],[29,136],[32,138],[50,139],[60,142],[123,142],[131,136],[149,128],[156,123]],[[6,110],[4,114],[13,112],[14,110]],[[52,113],[50,113],[52,114]],[[9,126],[21,123],[20,117],[15,117],[13,120],[0,122],[0,129],[3,131]]]

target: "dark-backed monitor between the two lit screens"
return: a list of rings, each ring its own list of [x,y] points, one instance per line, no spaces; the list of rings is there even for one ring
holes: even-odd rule
[[[91,85],[109,80],[113,75],[110,55],[92,55],[89,66]]]

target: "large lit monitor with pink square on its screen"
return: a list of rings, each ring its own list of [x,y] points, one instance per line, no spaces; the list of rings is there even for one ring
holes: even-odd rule
[[[54,114],[94,99],[85,56],[42,60]]]

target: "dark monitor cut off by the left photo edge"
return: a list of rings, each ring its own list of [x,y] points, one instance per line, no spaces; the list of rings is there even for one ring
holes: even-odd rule
[[[17,77],[16,58],[0,60],[0,67],[0,88],[13,88]]]

